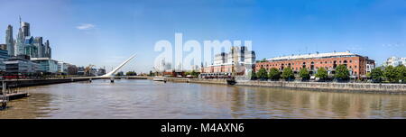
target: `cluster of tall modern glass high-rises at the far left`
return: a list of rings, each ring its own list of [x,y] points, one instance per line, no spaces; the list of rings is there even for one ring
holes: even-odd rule
[[[4,59],[0,62],[4,62],[5,72],[12,75],[25,75],[41,71],[56,73],[58,62],[51,59],[50,41],[43,44],[42,37],[32,37],[30,29],[30,23],[21,22],[20,18],[20,28],[14,40],[13,26],[7,26],[5,31],[6,50],[0,50],[0,59]],[[5,53],[7,56],[4,56]],[[9,56],[12,57],[9,58]],[[2,66],[0,64],[0,70],[4,68]]]

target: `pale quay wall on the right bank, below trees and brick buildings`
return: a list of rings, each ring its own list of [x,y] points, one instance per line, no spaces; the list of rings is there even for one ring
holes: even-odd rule
[[[187,82],[200,84],[227,85],[226,79],[198,79],[198,78],[165,78],[171,82]],[[237,81],[235,86],[245,87],[284,87],[292,89],[359,92],[380,94],[406,94],[406,84],[376,84],[376,83],[337,83],[337,82],[288,82],[288,81]]]

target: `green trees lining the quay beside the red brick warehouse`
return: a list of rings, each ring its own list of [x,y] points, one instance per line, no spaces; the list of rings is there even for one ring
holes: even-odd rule
[[[308,81],[310,79],[310,73],[307,68],[301,68],[299,71],[299,78],[302,81]],[[374,68],[372,69],[371,73],[367,73],[367,78],[371,78],[373,82],[391,82],[391,83],[398,83],[406,82],[406,67],[400,65],[398,67],[386,67],[386,68]],[[328,76],[328,70],[326,68],[318,68],[315,77],[319,79],[319,81],[328,81],[331,79],[336,79],[337,81],[347,81],[350,79],[350,74],[348,68],[345,65],[338,65],[335,71],[335,74],[332,77]],[[295,75],[291,68],[283,68],[280,71],[278,68],[271,68],[267,71],[265,68],[261,68],[258,72],[252,72],[251,79],[259,79],[259,80],[286,80],[291,81],[295,79]]]

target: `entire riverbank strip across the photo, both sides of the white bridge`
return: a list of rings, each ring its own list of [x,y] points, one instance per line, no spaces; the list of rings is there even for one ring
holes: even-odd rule
[[[127,79],[152,79],[152,77],[123,77]],[[77,81],[89,81],[93,77],[86,78],[55,78],[55,79],[19,79],[4,80],[8,87],[32,87],[50,84],[69,83]],[[198,79],[198,78],[164,78],[168,82],[219,84],[227,85],[226,79]],[[288,82],[288,81],[236,81],[235,86],[244,87],[282,87],[291,89],[334,91],[334,92],[359,92],[380,94],[406,94],[406,84],[375,84],[375,83],[337,83],[337,82]]]

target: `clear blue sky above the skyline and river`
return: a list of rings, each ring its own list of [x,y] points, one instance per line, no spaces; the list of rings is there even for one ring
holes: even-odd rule
[[[152,69],[156,41],[253,41],[257,59],[333,50],[378,64],[406,57],[405,0],[0,0],[0,43],[18,16],[51,41],[52,59],[110,70]],[[15,36],[14,36],[15,38]],[[172,42],[173,43],[173,42]]]

